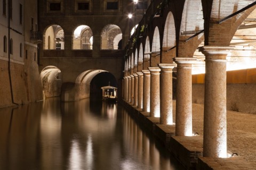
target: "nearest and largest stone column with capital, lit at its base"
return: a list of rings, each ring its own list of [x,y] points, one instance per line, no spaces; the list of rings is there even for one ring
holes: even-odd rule
[[[204,157],[227,157],[226,56],[231,46],[204,46]]]

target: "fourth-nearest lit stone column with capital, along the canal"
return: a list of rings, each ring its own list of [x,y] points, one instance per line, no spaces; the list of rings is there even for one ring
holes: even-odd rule
[[[160,117],[160,71],[158,67],[148,67],[150,71],[150,116]]]

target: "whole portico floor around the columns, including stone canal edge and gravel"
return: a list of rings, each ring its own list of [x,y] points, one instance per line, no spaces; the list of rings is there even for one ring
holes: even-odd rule
[[[173,100],[173,122],[175,122],[175,104]],[[199,134],[196,137],[175,137],[175,125],[160,125],[159,118],[148,117],[149,113],[142,112],[141,109],[134,108],[134,111],[135,114],[139,111],[134,117],[138,116],[139,122],[150,131],[153,130],[156,137],[161,139],[187,168],[256,169],[255,114],[227,111],[227,149],[229,154],[238,155],[227,159],[202,157],[204,105],[193,104],[193,133]],[[196,160],[197,156],[199,156],[198,160]],[[182,160],[184,158],[185,160]]]

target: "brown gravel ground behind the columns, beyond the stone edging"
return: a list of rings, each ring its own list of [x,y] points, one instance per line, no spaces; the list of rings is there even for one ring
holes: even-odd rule
[[[173,102],[175,111],[175,101]],[[203,135],[204,105],[193,104],[193,132]],[[175,112],[173,112],[175,119]],[[256,167],[256,115],[227,111],[228,151],[251,162]]]

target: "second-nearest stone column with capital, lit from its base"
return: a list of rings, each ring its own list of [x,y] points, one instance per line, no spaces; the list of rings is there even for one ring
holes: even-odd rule
[[[192,135],[192,63],[196,58],[174,58],[177,63],[175,135]]]

